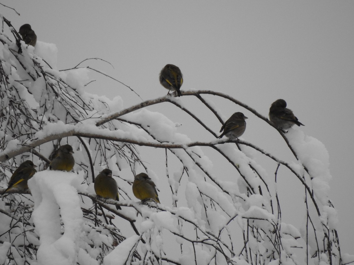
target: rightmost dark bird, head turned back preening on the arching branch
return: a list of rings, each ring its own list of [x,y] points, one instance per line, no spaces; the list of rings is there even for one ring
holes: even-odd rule
[[[277,99],[272,103],[269,108],[269,119],[282,130],[287,130],[294,124],[297,126],[303,125],[295,117],[294,113],[289,108],[286,108],[286,101],[284,99]]]

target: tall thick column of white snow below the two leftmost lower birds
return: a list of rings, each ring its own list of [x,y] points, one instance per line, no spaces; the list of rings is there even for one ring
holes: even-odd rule
[[[33,222],[40,236],[39,265],[75,264],[78,259],[83,220],[77,185],[76,174],[49,170],[37,172],[28,181],[34,199]]]

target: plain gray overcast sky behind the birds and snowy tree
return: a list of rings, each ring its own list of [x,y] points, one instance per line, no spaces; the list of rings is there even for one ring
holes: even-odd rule
[[[99,61],[89,64],[124,82],[144,100],[167,92],[158,82],[167,63],[181,68],[182,90],[228,93],[265,116],[274,100],[285,99],[306,125],[301,130],[329,151],[339,240],[343,252],[354,254],[354,1],[1,3],[21,13],[0,7],[17,30],[29,23],[39,41],[57,45],[58,69],[102,58],[114,69]],[[140,101],[118,83],[98,89],[99,78],[89,92],[121,95],[125,106]],[[235,112],[222,107],[225,118]],[[276,153],[272,137],[278,136],[270,135],[274,129],[263,131],[252,123],[254,116],[246,116],[243,138]],[[183,123],[177,114],[171,119]],[[219,130],[217,121],[210,124]]]

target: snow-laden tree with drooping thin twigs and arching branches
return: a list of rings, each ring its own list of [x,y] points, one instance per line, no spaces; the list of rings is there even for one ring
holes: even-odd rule
[[[255,109],[211,90],[123,108],[120,97],[85,93],[90,70],[98,70],[77,65],[59,71],[48,63],[56,56],[48,43],[34,48],[21,42],[19,54],[16,41],[2,33],[0,41],[0,185],[7,187],[23,160],[43,171],[29,181],[32,194],[10,190],[1,200],[0,252],[6,253],[1,264],[47,264],[48,252],[58,257],[51,264],[300,264],[304,258],[344,263],[328,198],[328,155],[318,140],[296,130],[285,135]],[[48,58],[37,54],[44,46],[51,51],[44,54]],[[284,139],[277,144],[287,146],[294,159],[241,139],[217,139],[218,130],[183,105],[187,97],[221,124],[213,99],[253,113],[274,127]],[[211,140],[192,142],[164,114],[147,110],[164,102]],[[73,172],[44,171],[53,150],[66,143],[75,152]],[[164,159],[155,161],[160,153]],[[166,176],[157,178],[151,163]],[[228,170],[215,171],[216,164]],[[106,167],[118,182],[119,202],[94,195],[93,178]],[[133,176],[143,171],[164,187],[161,204],[133,198]],[[303,187],[301,227],[283,221],[277,179],[285,171]],[[121,211],[112,207],[116,204]]]

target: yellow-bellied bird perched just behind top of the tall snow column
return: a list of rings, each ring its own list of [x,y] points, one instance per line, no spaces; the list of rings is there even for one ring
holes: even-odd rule
[[[63,145],[53,154],[53,159],[49,163],[50,170],[71,171],[75,165],[73,157],[73,147]]]

